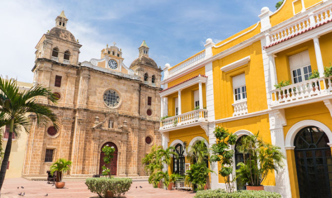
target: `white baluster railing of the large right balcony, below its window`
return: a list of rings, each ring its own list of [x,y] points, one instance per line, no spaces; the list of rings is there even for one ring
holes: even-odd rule
[[[272,90],[270,106],[283,105],[332,95],[332,76],[315,78]]]

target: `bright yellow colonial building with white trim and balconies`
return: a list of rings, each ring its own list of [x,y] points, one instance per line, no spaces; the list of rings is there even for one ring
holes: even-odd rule
[[[265,190],[283,198],[331,197],[332,81],[324,66],[332,62],[332,0],[285,0],[275,12],[263,7],[259,18],[218,44],[207,39],[203,51],[173,67],[166,64],[161,116],[171,117],[161,120],[160,131],[163,146],[178,146],[184,157],[170,170],[188,166],[188,146],[197,140],[211,147],[216,125],[238,138],[259,131],[286,156]],[[309,79],[314,70],[319,77]],[[281,81],[290,85],[276,89]],[[235,152],[234,162],[241,156]],[[213,189],[224,186],[211,174]]]

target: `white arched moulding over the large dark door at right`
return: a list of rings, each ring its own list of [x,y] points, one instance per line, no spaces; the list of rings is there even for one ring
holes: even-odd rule
[[[287,132],[286,138],[285,138],[285,148],[292,148],[294,147],[294,139],[296,134],[303,129],[304,127],[308,126],[316,126],[321,128],[325,134],[328,136],[330,143],[332,142],[332,132],[329,127],[327,127],[325,124],[316,121],[316,120],[302,120],[300,122],[297,122],[294,124]]]

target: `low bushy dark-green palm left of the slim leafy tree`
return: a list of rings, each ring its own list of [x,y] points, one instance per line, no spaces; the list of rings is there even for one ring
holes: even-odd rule
[[[209,173],[213,172],[206,166],[206,164],[191,164],[190,170],[187,170],[185,176],[185,183],[188,185],[192,185],[194,188],[194,192],[197,190],[204,190],[204,186],[206,184],[206,179],[209,177]]]

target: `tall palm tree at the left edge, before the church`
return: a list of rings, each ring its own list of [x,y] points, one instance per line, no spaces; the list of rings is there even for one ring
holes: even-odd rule
[[[27,116],[28,113],[36,114],[38,126],[46,125],[50,120],[58,129],[58,120],[55,113],[49,107],[37,103],[36,97],[46,97],[54,103],[57,99],[49,88],[36,85],[28,91],[20,93],[15,80],[0,78],[0,127],[9,126],[9,136],[0,169],[0,190],[6,174],[12,134],[19,135],[22,129],[25,129],[27,133],[30,132],[31,121]]]

